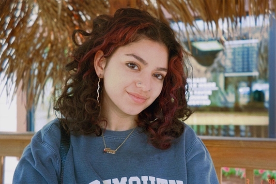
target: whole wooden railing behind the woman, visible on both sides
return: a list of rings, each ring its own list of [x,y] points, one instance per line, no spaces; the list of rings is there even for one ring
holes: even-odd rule
[[[0,184],[3,182],[3,158],[20,157],[33,133],[0,132]],[[222,183],[222,167],[245,168],[245,184],[254,184],[254,169],[276,170],[276,139],[226,138],[200,136],[210,152]]]

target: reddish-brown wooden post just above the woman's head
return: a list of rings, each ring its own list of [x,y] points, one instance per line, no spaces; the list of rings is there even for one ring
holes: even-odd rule
[[[137,8],[141,0],[109,0],[109,13],[113,15],[119,8]]]

